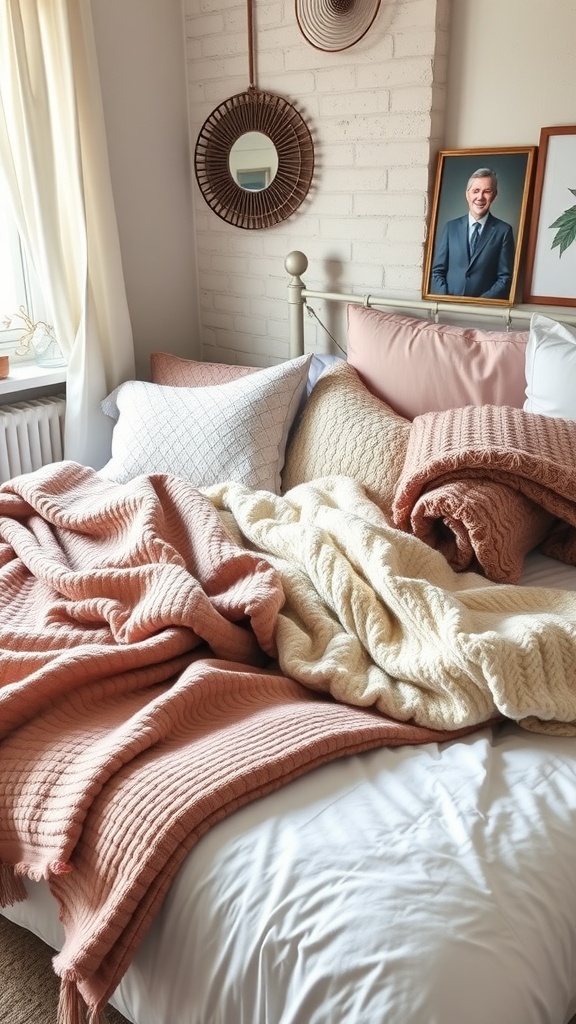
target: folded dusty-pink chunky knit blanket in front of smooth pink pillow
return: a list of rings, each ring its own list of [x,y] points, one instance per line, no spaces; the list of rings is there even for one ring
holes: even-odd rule
[[[457,571],[519,580],[540,546],[576,564],[576,423],[497,406],[416,417],[394,521]]]

